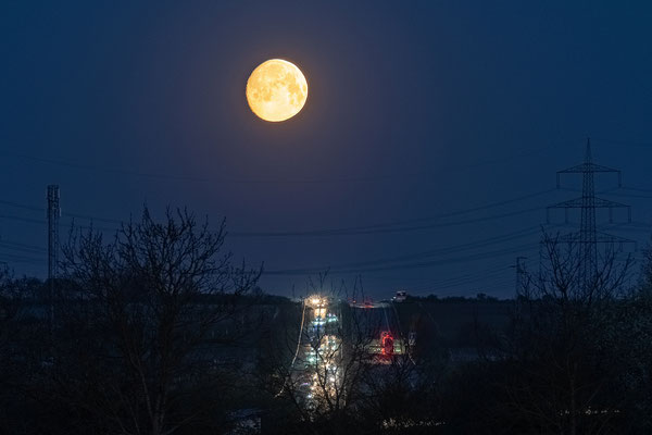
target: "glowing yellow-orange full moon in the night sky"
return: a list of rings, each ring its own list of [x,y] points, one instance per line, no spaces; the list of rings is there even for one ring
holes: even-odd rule
[[[308,83],[301,70],[281,59],[261,63],[247,80],[247,101],[259,117],[280,122],[303,109]]]

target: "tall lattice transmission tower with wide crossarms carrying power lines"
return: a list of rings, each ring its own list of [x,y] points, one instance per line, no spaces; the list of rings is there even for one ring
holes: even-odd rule
[[[624,237],[614,236],[606,233],[601,233],[595,227],[595,209],[609,209],[609,220],[613,223],[614,209],[627,209],[628,222],[631,222],[631,208],[627,204],[611,201],[595,197],[594,174],[597,173],[616,173],[618,174],[618,187],[622,187],[623,177],[619,170],[607,166],[602,166],[593,163],[591,156],[591,141],[587,139],[587,148],[585,161],[581,164],[572,166],[562,171],[557,171],[557,188],[561,187],[562,174],[581,174],[581,197],[562,201],[548,207],[547,220],[550,223],[551,209],[564,209],[565,222],[568,222],[569,209],[581,209],[581,220],[579,232],[566,234],[561,237],[561,240],[567,244],[577,245],[580,249],[581,270],[580,284],[586,286],[592,282],[598,270],[598,244],[630,244],[634,243]]]

